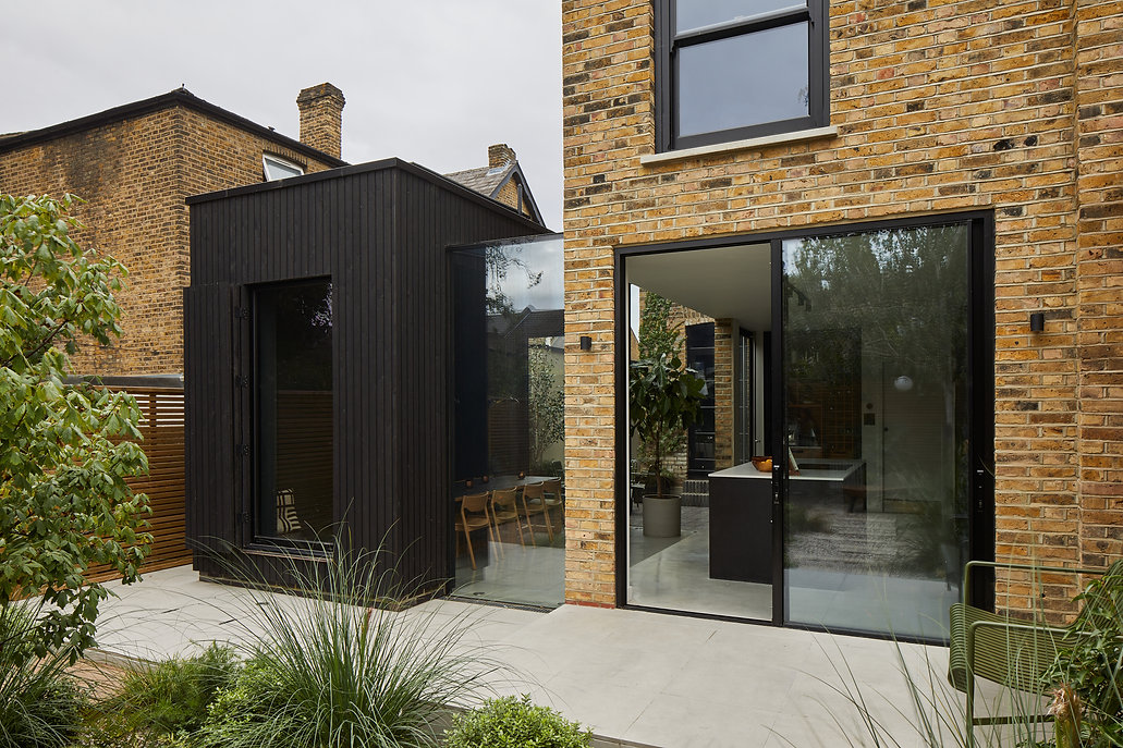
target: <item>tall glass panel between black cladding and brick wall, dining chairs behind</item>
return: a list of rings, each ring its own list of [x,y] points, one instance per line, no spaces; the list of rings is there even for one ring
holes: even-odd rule
[[[564,601],[562,246],[548,236],[453,252],[457,595]]]

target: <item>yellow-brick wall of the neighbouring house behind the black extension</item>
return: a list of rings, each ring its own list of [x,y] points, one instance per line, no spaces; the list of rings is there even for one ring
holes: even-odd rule
[[[261,182],[263,153],[309,172],[336,165],[289,138],[239,126],[230,121],[239,118],[217,117],[209,104],[199,108],[190,94],[176,94],[159,97],[167,100],[164,106],[134,116],[47,128],[31,143],[0,140],[0,192],[77,194],[85,200],[77,211],[85,225],[79,244],[112,255],[129,272],[117,295],[120,340],[110,348],[85,345],[72,359],[75,373],[183,372],[188,195]]]

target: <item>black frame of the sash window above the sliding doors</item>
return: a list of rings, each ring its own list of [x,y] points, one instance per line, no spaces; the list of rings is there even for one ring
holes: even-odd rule
[[[805,7],[793,6],[759,13],[743,20],[715,24],[676,34],[676,0],[655,0],[656,150],[664,153],[732,143],[829,125],[828,75],[830,55],[827,33],[827,2],[828,0],[807,0]],[[679,137],[676,115],[678,110],[678,51],[681,48],[802,22],[807,24],[809,34],[806,117],[758,122],[745,127]]]

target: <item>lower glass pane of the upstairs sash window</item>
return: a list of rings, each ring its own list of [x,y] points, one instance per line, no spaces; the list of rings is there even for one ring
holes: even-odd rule
[[[807,117],[807,24],[678,49],[678,135]]]

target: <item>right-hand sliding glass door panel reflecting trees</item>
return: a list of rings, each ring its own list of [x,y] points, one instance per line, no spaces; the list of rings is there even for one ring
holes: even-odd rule
[[[947,633],[967,558],[968,236],[784,243],[788,621]]]

